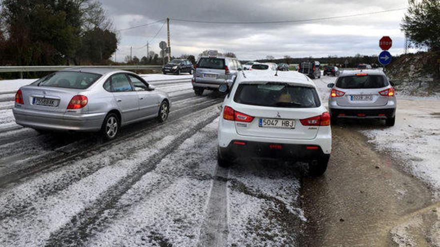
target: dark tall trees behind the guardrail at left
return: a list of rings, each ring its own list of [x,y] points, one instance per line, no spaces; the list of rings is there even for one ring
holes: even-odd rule
[[[108,64],[118,38],[98,0],[2,0],[0,65]]]

